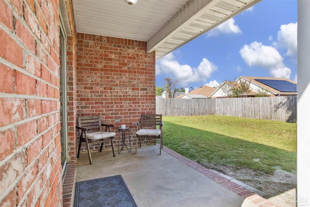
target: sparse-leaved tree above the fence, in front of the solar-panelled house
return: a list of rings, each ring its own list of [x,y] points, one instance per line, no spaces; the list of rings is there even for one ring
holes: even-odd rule
[[[247,97],[252,91],[250,88],[251,81],[240,79],[239,82],[235,80],[226,80],[225,85],[222,86],[222,91],[228,97]]]

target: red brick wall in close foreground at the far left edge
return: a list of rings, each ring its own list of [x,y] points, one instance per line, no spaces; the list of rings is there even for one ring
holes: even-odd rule
[[[58,4],[0,0],[1,207],[62,205]]]

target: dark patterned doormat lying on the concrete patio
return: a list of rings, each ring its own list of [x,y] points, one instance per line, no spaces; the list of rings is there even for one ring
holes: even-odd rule
[[[77,182],[75,207],[138,207],[122,175]]]

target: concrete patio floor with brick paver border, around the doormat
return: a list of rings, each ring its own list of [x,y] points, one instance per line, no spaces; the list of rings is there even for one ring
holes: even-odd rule
[[[87,153],[77,161],[75,181],[122,175],[139,207],[275,206],[238,181],[209,170],[164,147],[126,148],[114,158],[110,150]]]

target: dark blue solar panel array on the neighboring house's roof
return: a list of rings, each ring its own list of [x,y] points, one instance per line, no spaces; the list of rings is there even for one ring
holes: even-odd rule
[[[297,84],[287,80],[267,80],[267,79],[255,79],[271,88],[274,88],[280,92],[297,92]]]

